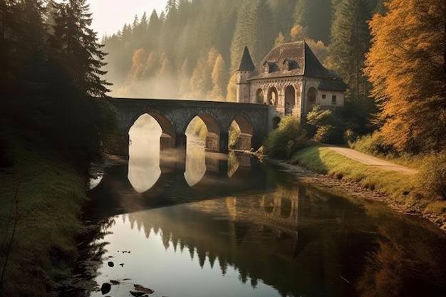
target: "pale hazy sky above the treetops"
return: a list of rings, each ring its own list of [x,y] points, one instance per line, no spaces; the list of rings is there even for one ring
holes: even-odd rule
[[[90,12],[93,13],[94,31],[101,39],[106,33],[112,35],[122,29],[124,24],[132,24],[135,15],[140,19],[144,11],[147,19],[153,9],[158,15],[165,9],[167,0],[89,0]]]

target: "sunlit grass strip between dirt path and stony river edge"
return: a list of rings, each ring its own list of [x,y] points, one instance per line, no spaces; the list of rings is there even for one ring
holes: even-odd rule
[[[299,150],[291,158],[291,162],[333,178],[358,182],[362,187],[384,193],[390,202],[399,204],[402,209],[418,209],[426,217],[446,221],[446,202],[425,197],[419,188],[422,178],[419,174],[368,167],[327,147],[317,146]]]

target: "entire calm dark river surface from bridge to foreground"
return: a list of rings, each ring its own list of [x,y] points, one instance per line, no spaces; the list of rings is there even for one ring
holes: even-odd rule
[[[446,239],[430,224],[246,155],[187,150],[130,152],[90,191],[71,293],[446,296]]]

